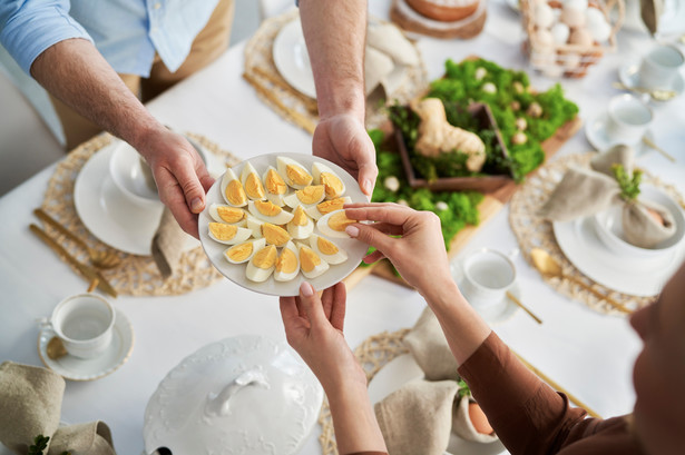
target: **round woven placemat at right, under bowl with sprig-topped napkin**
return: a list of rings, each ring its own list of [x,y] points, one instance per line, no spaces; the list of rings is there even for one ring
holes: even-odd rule
[[[654,301],[655,297],[636,297],[622,294],[601,286],[583,275],[566,258],[564,253],[561,253],[555,238],[551,222],[545,221],[536,215],[564,177],[566,169],[568,169],[570,165],[588,167],[590,159],[596,155],[596,152],[569,155],[542,166],[535,176],[526,180],[526,184],[523,184],[511,198],[509,225],[519,243],[521,255],[526,258],[528,264],[532,265],[530,250],[532,248],[542,248],[561,264],[565,274],[585,281],[593,288],[599,290],[603,295],[614,298],[628,308],[638,309]],[[664,184],[647,171],[643,174],[643,182],[660,188],[683,205],[683,196],[674,186]],[[568,279],[549,277],[542,277],[542,279],[557,291],[574,300],[584,303],[596,311],[623,314],[606,300],[598,298],[593,293],[589,293]]]

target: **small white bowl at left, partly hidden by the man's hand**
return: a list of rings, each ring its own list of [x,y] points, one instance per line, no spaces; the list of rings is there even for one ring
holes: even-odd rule
[[[157,188],[147,184],[140,155],[125,141],[120,141],[109,160],[109,175],[117,188],[140,207],[157,207],[162,204]]]

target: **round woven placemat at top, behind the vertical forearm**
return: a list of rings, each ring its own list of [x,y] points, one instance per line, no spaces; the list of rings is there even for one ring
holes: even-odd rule
[[[267,106],[286,120],[313,133],[319,121],[316,100],[291,87],[278,72],[273,59],[273,43],[276,36],[299,13],[299,10],[292,10],[262,22],[260,29],[245,44],[243,77],[255,88],[260,99]],[[419,52],[418,48],[417,52]],[[428,73],[423,59],[420,59],[420,61],[419,66],[408,68],[404,83],[392,93],[392,99],[388,101],[398,100],[400,103],[407,103],[425,90]],[[383,100],[375,97],[374,93],[366,99],[368,128],[378,128],[388,118],[384,112]]]

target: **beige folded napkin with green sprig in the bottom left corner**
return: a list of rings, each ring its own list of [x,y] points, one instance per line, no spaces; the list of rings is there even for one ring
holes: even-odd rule
[[[47,436],[48,455],[115,455],[111,434],[102,422],[59,427],[65,379],[29,365],[0,365],[0,442],[26,455],[38,435]]]

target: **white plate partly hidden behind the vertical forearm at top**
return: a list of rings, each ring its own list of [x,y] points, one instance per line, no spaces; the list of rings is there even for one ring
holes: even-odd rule
[[[274,63],[283,79],[295,90],[316,98],[314,73],[310,63],[300,18],[281,28],[272,47]]]

